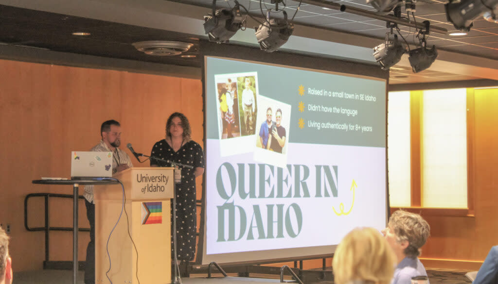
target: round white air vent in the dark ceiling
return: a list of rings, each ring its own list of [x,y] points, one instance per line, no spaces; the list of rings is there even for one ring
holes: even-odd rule
[[[174,56],[189,50],[194,44],[181,41],[139,41],[132,43],[138,50],[148,55]]]

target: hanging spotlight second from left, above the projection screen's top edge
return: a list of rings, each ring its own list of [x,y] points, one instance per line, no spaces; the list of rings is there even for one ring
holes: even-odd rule
[[[266,21],[255,28],[255,35],[261,50],[273,52],[287,42],[294,25],[287,21],[287,13],[282,10],[283,19],[270,19],[270,11],[266,12]]]

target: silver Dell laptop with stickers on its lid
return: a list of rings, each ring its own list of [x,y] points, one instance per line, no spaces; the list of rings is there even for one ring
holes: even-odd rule
[[[113,152],[71,152],[71,179],[110,178]]]

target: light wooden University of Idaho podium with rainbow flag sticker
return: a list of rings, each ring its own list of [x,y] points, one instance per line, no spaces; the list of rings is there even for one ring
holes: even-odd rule
[[[174,194],[174,168],[130,168],[113,176],[120,184],[94,187],[95,202],[95,281],[110,284],[106,277],[109,239],[113,283],[171,283],[170,199]],[[128,235],[129,230],[129,235]],[[136,245],[137,254],[133,247]],[[137,273],[138,272],[138,273]]]

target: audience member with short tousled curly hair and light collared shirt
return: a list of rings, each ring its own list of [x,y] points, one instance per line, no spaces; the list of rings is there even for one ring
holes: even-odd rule
[[[419,214],[397,210],[392,213],[382,234],[397,258],[391,284],[411,284],[413,277],[427,276],[425,267],[418,259],[420,248],[430,234],[427,221]]]

